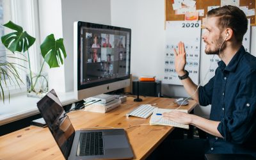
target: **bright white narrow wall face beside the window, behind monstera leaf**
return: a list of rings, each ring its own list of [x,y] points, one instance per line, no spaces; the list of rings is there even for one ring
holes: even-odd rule
[[[44,42],[47,35],[54,34],[55,39],[63,37],[61,0],[39,0],[40,40]],[[45,72],[49,73],[49,88],[65,92],[64,66],[49,69],[45,63]]]

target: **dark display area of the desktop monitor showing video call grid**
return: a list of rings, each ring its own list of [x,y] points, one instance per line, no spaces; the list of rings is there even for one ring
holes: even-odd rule
[[[128,31],[83,27],[80,33],[81,85],[129,76]]]

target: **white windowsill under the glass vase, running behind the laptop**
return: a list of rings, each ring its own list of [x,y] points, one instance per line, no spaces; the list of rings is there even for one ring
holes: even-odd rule
[[[57,93],[57,95],[63,106],[77,101],[74,92]],[[2,100],[0,102],[0,125],[38,114],[36,103],[39,100],[38,98],[27,97],[26,94],[10,97],[10,102],[7,97],[4,104]]]

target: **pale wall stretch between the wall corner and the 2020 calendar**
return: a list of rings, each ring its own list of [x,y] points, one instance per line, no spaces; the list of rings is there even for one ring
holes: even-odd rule
[[[111,0],[111,24],[132,29],[132,76],[163,77],[164,0]]]

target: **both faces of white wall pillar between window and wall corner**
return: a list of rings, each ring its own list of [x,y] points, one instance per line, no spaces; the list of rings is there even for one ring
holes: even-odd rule
[[[67,52],[65,63],[60,68],[46,69],[49,72],[49,88],[58,92],[74,90],[73,23],[81,20],[111,24],[110,0],[38,0],[41,41],[54,33],[55,39],[64,38]]]

